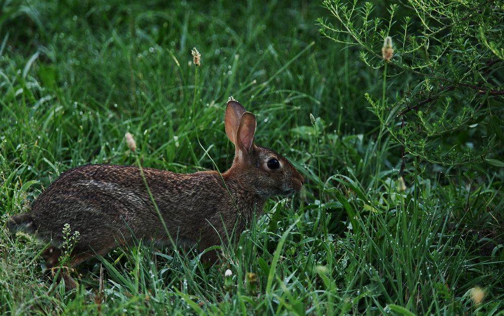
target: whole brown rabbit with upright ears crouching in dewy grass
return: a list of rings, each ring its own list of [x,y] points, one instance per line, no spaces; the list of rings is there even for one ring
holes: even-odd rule
[[[241,233],[263,212],[271,196],[298,192],[303,177],[281,155],[254,144],[256,117],[234,100],[227,103],[226,134],[235,145],[233,165],[226,172],[180,174],[142,168],[167,231],[148,194],[139,167],[86,165],[62,173],[39,197],[31,212],[13,216],[11,231],[24,229],[51,241],[42,254],[48,268],[58,264],[62,229],[79,232],[72,252],[74,267],[103,256],[137,238],[200,249],[226,242],[226,232]],[[212,251],[204,258],[214,262]],[[63,274],[68,289],[75,281]]]

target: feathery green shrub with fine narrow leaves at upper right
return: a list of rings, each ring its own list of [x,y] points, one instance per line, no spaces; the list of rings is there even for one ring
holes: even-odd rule
[[[444,165],[504,165],[501,1],[323,5],[333,19],[318,20],[322,34],[356,46],[362,61],[383,73],[383,90],[366,98],[406,153]],[[386,36],[394,42],[389,62],[382,57]]]

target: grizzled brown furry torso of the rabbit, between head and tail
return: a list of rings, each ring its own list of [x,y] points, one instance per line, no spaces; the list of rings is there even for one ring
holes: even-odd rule
[[[143,168],[143,173],[166,227],[178,243],[193,245],[203,237],[203,244],[218,244],[224,229],[233,229],[236,223],[243,230],[246,220],[238,219],[217,172],[179,174]],[[253,207],[245,205],[248,202],[261,204],[242,198],[242,189],[232,180],[226,184],[242,212],[253,212]],[[31,214],[39,236],[56,244],[63,240],[62,227],[70,224],[72,231],[80,233],[83,251],[111,248],[117,240],[130,243],[133,236],[170,242],[140,168],[135,166],[86,165],[64,172],[35,200]]]

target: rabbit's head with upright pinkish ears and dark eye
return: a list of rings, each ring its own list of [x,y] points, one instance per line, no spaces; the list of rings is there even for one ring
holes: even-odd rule
[[[233,165],[227,176],[263,199],[290,195],[301,189],[303,177],[287,159],[254,144],[256,116],[253,113],[230,100],[225,125],[227,137],[235,145]]]

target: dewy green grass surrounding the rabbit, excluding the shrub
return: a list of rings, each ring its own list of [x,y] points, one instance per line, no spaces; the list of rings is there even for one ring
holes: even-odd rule
[[[320,4],[0,6],[4,221],[62,171],[135,163],[126,132],[142,166],[214,169],[207,151],[225,170],[229,96],[257,115],[257,144],[306,180],[300,194],[269,201],[218,265],[153,245],[120,248],[80,267],[71,292],[44,271],[44,244],[2,230],[3,314],[502,314],[504,171],[409,158],[402,187],[401,150],[364,97],[381,97],[383,75],[321,38]]]

